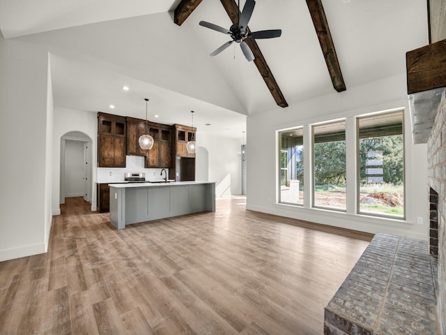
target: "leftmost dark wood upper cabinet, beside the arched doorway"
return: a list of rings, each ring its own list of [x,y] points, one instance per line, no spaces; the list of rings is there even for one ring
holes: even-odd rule
[[[98,112],[98,167],[125,168],[125,117]]]

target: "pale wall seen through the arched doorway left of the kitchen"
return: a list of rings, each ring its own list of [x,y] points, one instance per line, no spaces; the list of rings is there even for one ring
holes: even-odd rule
[[[65,141],[65,198],[84,196],[84,142]]]

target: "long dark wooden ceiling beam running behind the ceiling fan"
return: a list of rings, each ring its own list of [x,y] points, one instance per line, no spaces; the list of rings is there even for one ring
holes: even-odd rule
[[[220,1],[222,2],[222,5],[226,10],[226,13],[228,13],[232,23],[233,24],[237,23],[240,11],[238,9],[236,1],[234,0],[220,0]],[[259,73],[262,76],[263,80],[265,81],[266,86],[270,90],[270,93],[274,98],[275,102],[280,107],[288,107],[288,103],[286,103],[285,97],[279,88],[279,84],[277,84],[274,75],[272,75],[270,67],[266,63],[265,57],[263,57],[263,54],[261,53],[259,45],[257,45],[256,43],[256,40],[247,38],[245,42],[247,43],[252,53],[254,54],[255,57],[254,64],[256,64],[256,67],[259,70]]]

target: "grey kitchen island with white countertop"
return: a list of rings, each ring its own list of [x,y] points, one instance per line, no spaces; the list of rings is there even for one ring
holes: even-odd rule
[[[215,211],[215,182],[109,184],[110,222],[117,229],[158,218]]]

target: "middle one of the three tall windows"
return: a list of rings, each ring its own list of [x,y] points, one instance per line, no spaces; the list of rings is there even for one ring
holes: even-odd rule
[[[313,126],[314,207],[346,210],[345,121]]]

